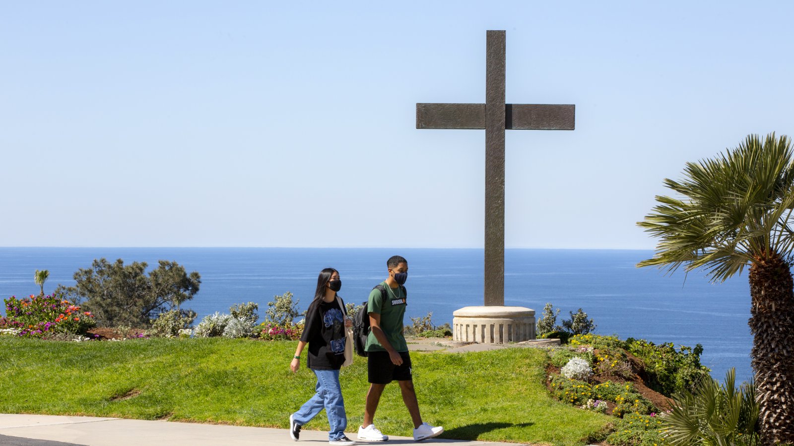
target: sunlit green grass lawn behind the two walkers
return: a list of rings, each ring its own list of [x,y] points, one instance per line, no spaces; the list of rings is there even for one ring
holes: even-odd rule
[[[295,342],[151,339],[56,342],[0,336],[0,413],[168,419],[287,428],[314,393],[314,374],[289,371]],[[585,444],[611,418],[549,397],[545,352],[508,348],[412,353],[422,417],[446,438]],[[366,359],[341,372],[355,433],[364,411]],[[127,398],[124,398],[125,395]],[[396,384],[376,413],[384,433],[410,436]],[[305,429],[328,429],[325,412]]]

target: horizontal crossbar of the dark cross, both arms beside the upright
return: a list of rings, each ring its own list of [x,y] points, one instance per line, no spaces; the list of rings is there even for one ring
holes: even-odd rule
[[[576,106],[507,104],[505,129],[573,130]],[[417,129],[485,129],[485,104],[416,104]]]

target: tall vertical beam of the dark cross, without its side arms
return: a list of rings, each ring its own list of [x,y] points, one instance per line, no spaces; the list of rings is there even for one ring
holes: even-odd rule
[[[504,305],[505,32],[488,31],[485,75],[485,298]]]

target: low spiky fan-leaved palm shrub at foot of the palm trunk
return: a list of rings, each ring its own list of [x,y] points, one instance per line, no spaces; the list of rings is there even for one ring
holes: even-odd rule
[[[661,417],[670,444],[760,444],[755,386],[737,387],[734,369],[727,372],[724,384],[703,379],[694,392],[684,390],[673,401],[672,411]]]

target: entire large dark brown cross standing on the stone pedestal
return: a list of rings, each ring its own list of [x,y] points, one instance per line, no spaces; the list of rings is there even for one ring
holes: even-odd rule
[[[504,305],[504,131],[573,130],[575,106],[506,104],[505,32],[488,31],[484,104],[417,104],[417,129],[485,129],[485,305]]]

